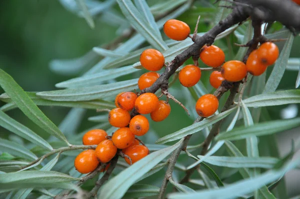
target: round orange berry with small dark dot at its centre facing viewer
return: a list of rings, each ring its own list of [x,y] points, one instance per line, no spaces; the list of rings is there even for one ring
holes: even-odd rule
[[[144,135],[149,130],[149,121],[143,115],[135,115],[129,122],[130,131],[137,135]]]

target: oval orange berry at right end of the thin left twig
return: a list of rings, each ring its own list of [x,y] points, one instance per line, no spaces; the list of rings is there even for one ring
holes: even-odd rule
[[[107,139],[107,133],[102,129],[92,129],[87,131],[82,137],[83,145],[99,144],[101,141]]]

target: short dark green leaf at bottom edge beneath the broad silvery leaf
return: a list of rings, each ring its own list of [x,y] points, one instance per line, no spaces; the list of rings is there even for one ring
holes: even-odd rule
[[[137,198],[137,197],[148,197],[151,195],[157,195],[159,188],[157,186],[148,184],[133,184],[122,198]]]

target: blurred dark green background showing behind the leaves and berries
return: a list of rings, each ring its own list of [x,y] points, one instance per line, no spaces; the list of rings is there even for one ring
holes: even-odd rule
[[[154,4],[158,0],[150,0],[149,4]],[[212,2],[212,0],[210,1]],[[196,18],[201,14],[199,32],[209,29],[213,22],[216,8],[211,6],[208,1],[199,0],[194,7],[183,13],[178,19],[187,22],[193,31]],[[116,4],[114,10],[120,11]],[[0,1],[0,68],[10,74],[15,81],[25,91],[45,91],[54,90],[55,83],[76,77],[88,69],[84,68],[78,74],[62,75],[49,69],[49,62],[53,59],[68,59],[82,56],[92,47],[107,44],[118,36],[118,26],[110,24],[101,18],[101,14],[94,17],[95,28],[91,29],[85,19],[66,10],[59,0],[1,0]],[[279,27],[281,27],[279,25]],[[163,35],[166,39],[166,37]],[[228,42],[229,41],[229,42]],[[237,46],[232,43],[237,39],[230,35],[227,38],[216,41],[215,44],[224,49],[226,60],[236,53]],[[284,42],[278,43],[282,48]],[[145,46],[146,44],[144,44]],[[232,51],[231,51],[232,49]],[[290,57],[299,58],[300,38],[295,37]],[[230,54],[231,53],[231,54]],[[101,57],[99,57],[100,59]],[[190,60],[189,60],[190,61]],[[202,64],[201,67],[204,65]],[[272,67],[269,67],[269,75]],[[144,71],[143,71],[144,72]],[[140,73],[126,75],[119,79],[137,78]],[[210,72],[202,72],[201,80],[207,86],[208,91],[213,92],[208,82]],[[285,71],[278,89],[294,89],[297,71]],[[3,90],[0,88],[0,93]],[[182,88],[178,81],[174,84],[170,92],[178,97],[184,104],[192,101],[191,97],[186,97],[188,91]],[[194,103],[194,102],[193,102]],[[0,101],[0,105],[4,103]],[[155,135],[147,135],[144,139],[147,143],[153,143],[157,137],[174,132],[182,127],[190,125],[194,120],[194,114],[188,116],[184,110],[171,101],[172,111],[170,116],[163,122],[151,122],[152,131]],[[192,108],[192,106],[190,106]],[[282,118],[280,112],[287,105],[265,108],[265,115],[262,120]],[[298,105],[291,107],[296,110]],[[58,125],[70,108],[40,106],[40,109],[56,125]],[[45,133],[40,132],[40,128],[30,121],[18,110],[10,110],[8,115],[26,125],[39,135],[46,137]],[[77,129],[78,132],[93,126],[95,123],[87,121],[87,117],[97,115],[95,110],[88,110]],[[296,116],[294,115],[294,116]],[[0,136],[22,141],[16,136],[0,126]],[[191,144],[199,143],[202,135],[194,136]],[[289,148],[289,146],[286,146]],[[185,159],[187,159],[185,157]],[[190,160],[190,159],[189,159]]]

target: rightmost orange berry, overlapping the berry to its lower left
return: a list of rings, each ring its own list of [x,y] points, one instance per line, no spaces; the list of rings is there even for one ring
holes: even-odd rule
[[[257,58],[266,65],[273,64],[279,56],[279,49],[275,43],[264,42],[257,49]]]

